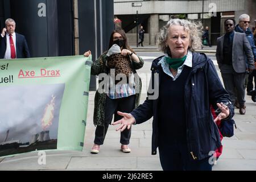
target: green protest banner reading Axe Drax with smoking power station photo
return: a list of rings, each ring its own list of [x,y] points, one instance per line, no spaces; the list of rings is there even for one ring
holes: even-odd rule
[[[82,151],[91,64],[84,56],[0,60],[0,156]]]

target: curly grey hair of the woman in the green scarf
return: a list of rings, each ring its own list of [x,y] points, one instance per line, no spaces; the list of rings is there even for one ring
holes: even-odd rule
[[[168,38],[168,29],[172,25],[180,25],[184,27],[184,30],[188,32],[190,35],[190,46],[189,51],[195,51],[202,46],[202,33],[203,26],[201,22],[194,22],[193,20],[187,19],[171,19],[159,32],[159,50],[168,53],[170,49],[166,46],[167,38]]]

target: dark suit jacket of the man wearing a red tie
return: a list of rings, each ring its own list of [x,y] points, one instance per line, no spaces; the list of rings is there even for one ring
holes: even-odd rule
[[[16,33],[16,58],[29,58],[30,51],[24,35]],[[0,59],[5,57],[6,52],[6,35],[2,38],[0,35]]]

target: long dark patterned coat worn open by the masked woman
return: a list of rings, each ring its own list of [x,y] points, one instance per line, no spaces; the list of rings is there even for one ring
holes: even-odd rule
[[[96,62],[94,62],[92,64],[92,68],[91,68],[91,75],[100,75],[100,73],[109,73],[109,68],[106,67],[106,61],[108,60],[108,57],[106,56],[106,53],[108,52],[104,52],[100,57],[98,57],[98,59],[96,60]],[[140,62],[136,63],[133,60],[131,61],[131,69],[133,71],[133,73],[137,73],[136,69],[140,69],[143,67],[144,61],[141,59],[141,57],[139,57]],[[141,78],[139,79],[135,79],[135,80],[139,80],[139,83],[135,83],[136,85],[139,85],[139,93],[137,92],[135,94],[135,106],[134,109],[137,108],[139,106],[139,100],[141,97],[141,88],[142,88],[142,82],[141,82]],[[105,101],[106,101],[106,93],[99,93],[98,90],[96,91],[95,97],[94,97],[94,113],[93,113],[93,124],[95,126],[104,126],[104,116],[105,116]]]

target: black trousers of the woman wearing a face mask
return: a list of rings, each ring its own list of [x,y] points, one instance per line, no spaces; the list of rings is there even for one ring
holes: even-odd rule
[[[118,121],[119,119],[122,119],[122,117],[117,114],[117,111],[121,111],[123,113],[130,113],[131,111],[133,111],[134,105],[135,105],[135,95],[130,97],[117,98],[117,99],[110,99],[107,96],[106,104],[105,104],[104,126],[96,127],[94,143],[98,145],[101,145],[104,143],[106,133],[113,119],[113,114],[114,114],[114,121]],[[131,138],[131,128],[130,130],[125,129],[121,132],[120,143],[129,144],[130,138]]]

